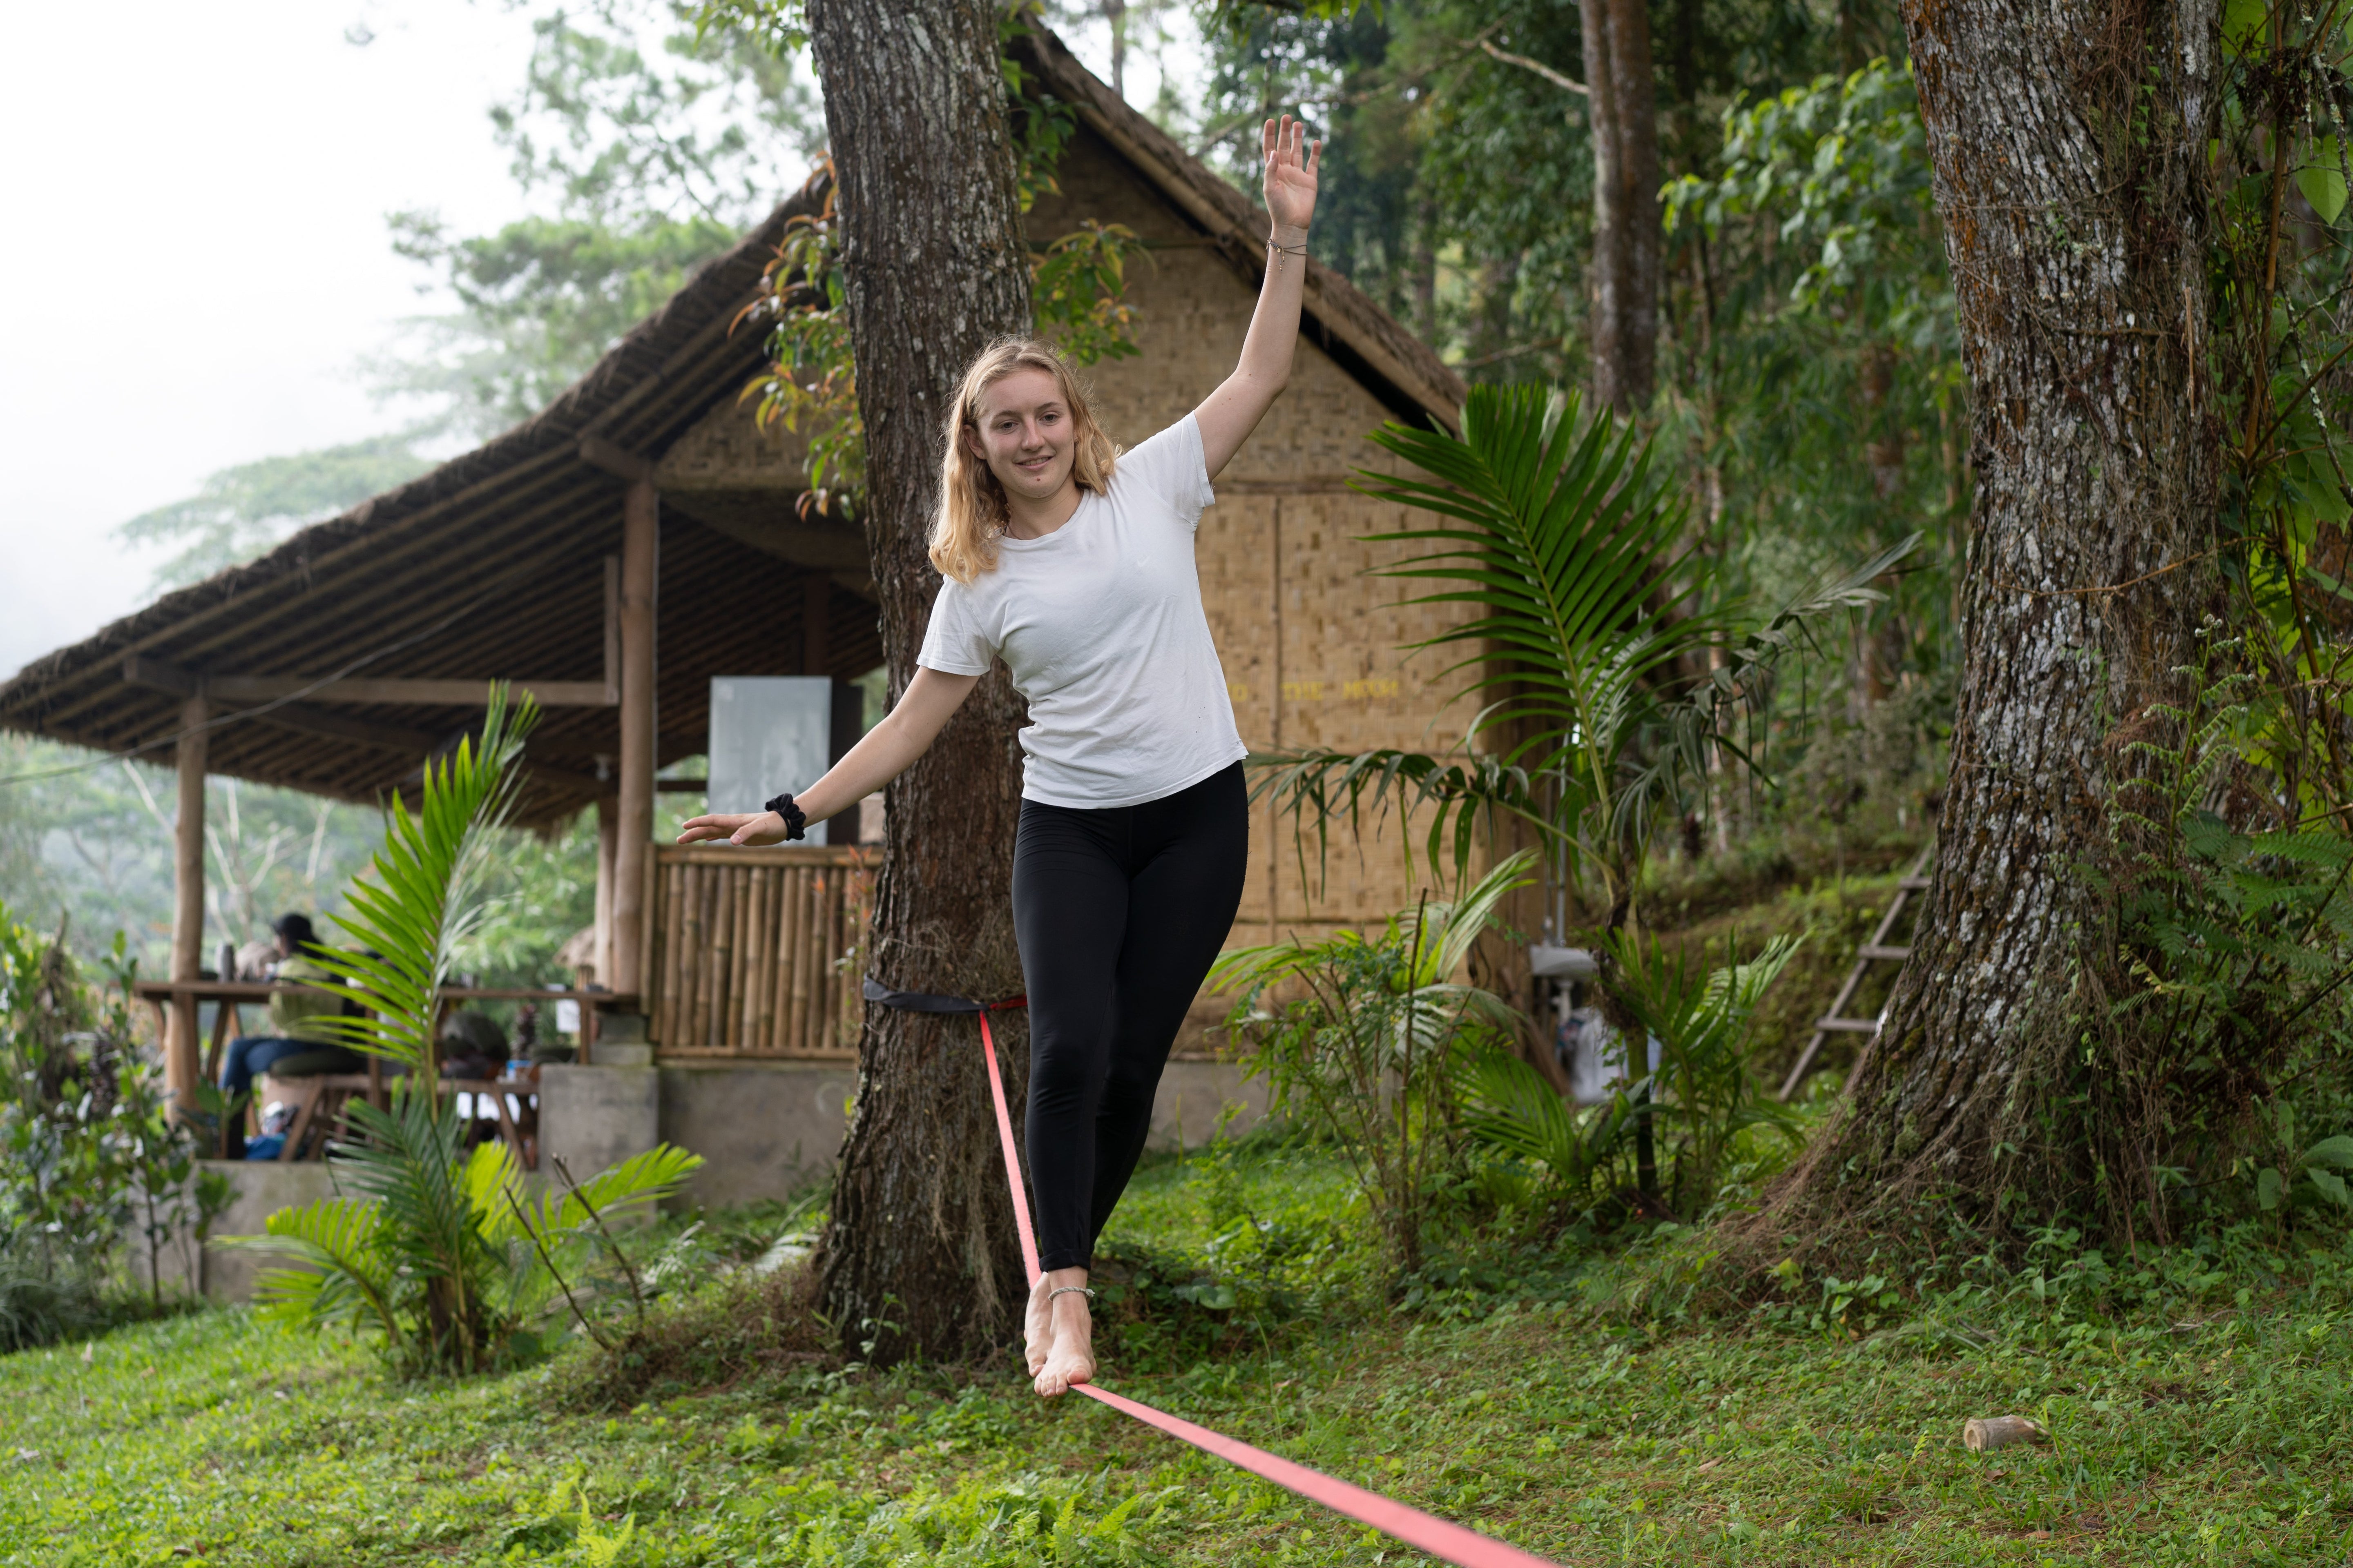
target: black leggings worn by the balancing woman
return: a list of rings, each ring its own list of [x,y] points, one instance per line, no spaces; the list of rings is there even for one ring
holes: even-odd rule
[[[1169,1044],[1233,931],[1247,860],[1240,762],[1141,806],[1021,802],[1014,933],[1040,1267],[1094,1258],[1144,1154]]]

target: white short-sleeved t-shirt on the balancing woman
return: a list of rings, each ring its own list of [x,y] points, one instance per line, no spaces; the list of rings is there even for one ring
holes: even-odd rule
[[[1080,491],[1071,522],[1045,538],[1000,538],[995,571],[939,585],[915,663],[986,675],[1005,661],[1028,698],[1024,799],[1136,806],[1249,752],[1193,569],[1212,501],[1200,425],[1186,414],[1120,456],[1108,494]]]

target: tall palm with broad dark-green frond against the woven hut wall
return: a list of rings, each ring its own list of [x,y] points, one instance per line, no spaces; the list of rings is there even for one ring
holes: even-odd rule
[[[1374,442],[1428,475],[1365,473],[1358,489],[1445,520],[1372,543],[1421,550],[1381,569],[1438,585],[1407,604],[1471,611],[1414,646],[1461,654],[1440,679],[1461,675],[1478,717],[1452,759],[1266,757],[1257,790],[1318,830],[1367,804],[1426,809],[1426,851],[1435,865],[1452,825],[1457,875],[1473,818],[1525,818],[1567,872],[1593,877],[1612,929],[1628,919],[1659,811],[1680,804],[1711,759],[1744,757],[1725,715],[1762,708],[1774,665],[1807,628],[1875,604],[1873,578],[1913,548],[1817,578],[1734,637],[1732,609],[1694,609],[1694,590],[1675,588],[1687,567],[1682,505],[1631,425],[1584,421],[1567,393],[1475,386],[1459,437],[1391,423]]]

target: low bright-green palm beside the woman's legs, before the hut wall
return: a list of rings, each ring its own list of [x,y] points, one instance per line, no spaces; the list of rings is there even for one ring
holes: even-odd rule
[[[1504,896],[1529,884],[1529,865],[1522,851],[1461,898],[1426,898],[1372,938],[1235,947],[1209,971],[1212,990],[1238,992],[1226,1027],[1247,1046],[1245,1072],[1264,1074],[1280,1105],[1348,1154],[1400,1272],[1421,1267],[1454,1058],[1520,1025],[1511,1004],[1454,976]]]

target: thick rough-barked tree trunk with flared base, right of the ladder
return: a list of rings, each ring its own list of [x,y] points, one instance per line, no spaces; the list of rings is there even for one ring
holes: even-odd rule
[[[1784,1199],[2017,1194],[2129,1237],[2137,1213],[2162,1227],[2148,1079],[2104,1030],[2115,936],[2085,865],[2134,766],[2115,733],[2162,733],[2148,705],[2179,701],[2212,581],[2214,0],[1911,0],[1906,21],[1974,393],[1965,663],[1920,936]]]

